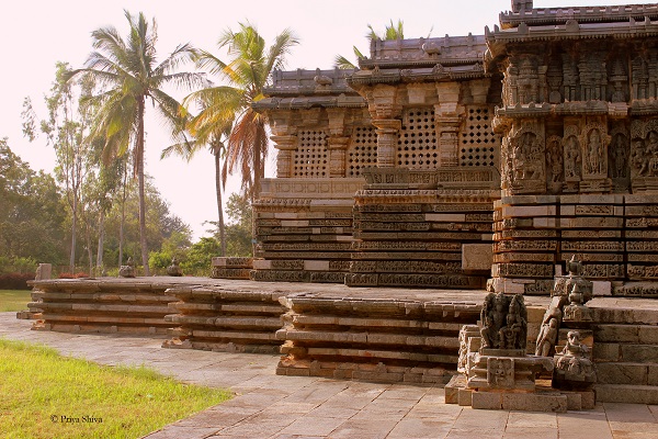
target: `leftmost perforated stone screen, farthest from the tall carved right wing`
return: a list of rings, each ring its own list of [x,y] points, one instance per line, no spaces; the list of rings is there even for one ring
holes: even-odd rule
[[[328,177],[327,133],[305,130],[297,134],[299,142],[293,155],[293,176],[306,178]]]

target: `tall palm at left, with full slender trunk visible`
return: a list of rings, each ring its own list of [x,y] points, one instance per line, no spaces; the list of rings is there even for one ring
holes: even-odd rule
[[[70,72],[70,78],[84,74],[104,86],[104,92],[90,98],[99,104],[91,132],[103,138],[106,160],[125,154],[133,144],[134,173],[139,184],[139,240],[145,275],[150,275],[146,244],[146,206],[144,198],[144,115],[150,99],[161,120],[172,133],[182,133],[184,120],[179,102],[162,91],[166,85],[194,87],[204,85],[201,74],[174,72],[195,50],[190,44],[179,45],[164,60],[156,60],[158,40],[155,19],[149,23],[143,13],[125,11],[129,33],[124,41],[114,26],[93,31],[92,52],[84,68]]]

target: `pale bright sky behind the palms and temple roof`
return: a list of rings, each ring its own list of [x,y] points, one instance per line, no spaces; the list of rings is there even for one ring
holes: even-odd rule
[[[632,1],[633,3],[647,3]],[[623,1],[535,0],[535,8],[568,5],[610,5]],[[30,97],[41,117],[46,117],[43,97],[55,79],[55,64],[67,61],[82,67],[91,52],[91,32],[109,25],[126,35],[124,10],[144,12],[158,24],[158,53],[169,54],[182,43],[217,54],[223,31],[250,22],[271,43],[290,27],[300,44],[287,58],[287,68],[329,69],[337,54],[353,58],[352,46],[370,50],[367,25],[382,32],[390,20],[402,20],[405,36],[484,34],[492,29],[500,11],[510,9],[510,0],[251,0],[246,3],[220,0],[21,0],[2,5],[0,41],[3,67],[0,72],[0,137],[8,137],[11,149],[35,169],[52,172],[55,153],[42,136],[30,143],[21,131],[24,98]],[[186,66],[192,70],[193,66]],[[184,90],[172,92],[183,98]],[[170,203],[173,213],[193,230],[194,238],[207,235],[205,221],[216,221],[214,161],[201,151],[192,161],[172,157],[160,160],[169,136],[147,114],[146,171]],[[275,153],[272,149],[266,177],[273,177]],[[239,190],[237,179],[229,181],[225,200]],[[1,209],[1,206],[0,206]]]

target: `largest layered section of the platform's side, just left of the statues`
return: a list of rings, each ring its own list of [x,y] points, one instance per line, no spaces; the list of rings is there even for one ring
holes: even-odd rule
[[[276,370],[383,382],[446,383],[457,361],[457,334],[479,316],[475,303],[292,294],[276,337]]]

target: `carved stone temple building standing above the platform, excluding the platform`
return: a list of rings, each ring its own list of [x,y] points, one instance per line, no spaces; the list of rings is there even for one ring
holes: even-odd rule
[[[484,35],[277,71],[251,279],[658,296],[658,4],[533,8]],[[242,270],[243,273],[247,270]]]

